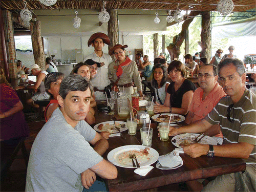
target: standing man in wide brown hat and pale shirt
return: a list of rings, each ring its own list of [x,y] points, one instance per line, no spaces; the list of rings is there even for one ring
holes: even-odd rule
[[[105,99],[104,88],[110,84],[108,77],[109,64],[113,61],[111,56],[103,53],[102,48],[104,45],[110,45],[110,38],[104,33],[94,33],[88,40],[88,47],[92,45],[94,52],[88,55],[83,61],[87,59],[94,59],[100,63],[100,67],[90,67],[91,74],[96,75],[91,79],[95,92],[95,100]]]

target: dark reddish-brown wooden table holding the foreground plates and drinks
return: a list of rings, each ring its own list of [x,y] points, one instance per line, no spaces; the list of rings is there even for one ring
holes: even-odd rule
[[[97,103],[100,102],[97,101]],[[107,113],[96,112],[95,118],[97,124],[103,121],[109,121],[113,116],[107,115]],[[159,140],[156,126],[157,123],[153,122],[153,141],[151,147],[158,151],[159,155],[172,152],[175,149],[175,146],[170,140]],[[129,135],[128,131],[124,131],[122,134],[126,139],[123,139],[122,137],[111,137],[109,139],[109,148],[103,155],[103,158],[106,159],[108,153],[116,147],[141,144],[139,126],[137,127],[137,134],[135,136]],[[118,170],[117,178],[106,180],[106,183],[108,184],[110,191],[139,191],[172,183],[239,172],[246,168],[245,161],[237,158],[210,158],[206,155],[198,158],[191,158],[186,154],[180,154],[180,156],[183,160],[183,165],[181,167],[173,170],[161,170],[156,168],[156,163],[154,163],[152,164],[154,168],[145,177],[135,174],[134,168],[122,168],[116,166]]]

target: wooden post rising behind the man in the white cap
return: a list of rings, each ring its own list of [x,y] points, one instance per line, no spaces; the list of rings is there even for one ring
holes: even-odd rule
[[[36,22],[30,22],[30,31],[35,63],[44,70],[46,66],[46,58],[44,48],[42,46],[41,22],[39,20]]]

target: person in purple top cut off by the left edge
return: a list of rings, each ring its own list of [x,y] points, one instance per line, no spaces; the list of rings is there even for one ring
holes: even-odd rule
[[[4,70],[1,66],[0,83],[1,141],[16,139],[19,137],[28,137],[29,127],[22,112],[23,104],[20,102],[18,95],[6,80]]]

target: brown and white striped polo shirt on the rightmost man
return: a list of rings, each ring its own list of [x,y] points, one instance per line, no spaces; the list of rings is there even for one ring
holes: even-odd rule
[[[246,142],[254,145],[254,148],[248,159],[247,164],[255,166],[255,141],[256,141],[256,96],[248,89],[245,89],[241,99],[233,105],[230,112],[230,118],[227,119],[227,109],[233,104],[229,96],[220,99],[214,109],[205,117],[211,124],[220,123],[223,134],[223,144]]]

